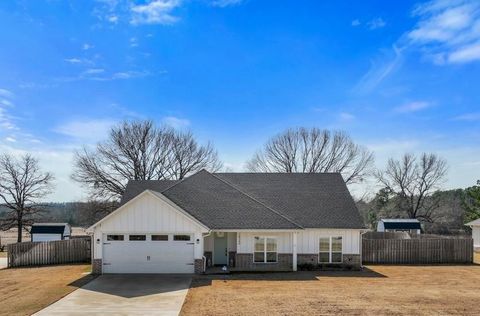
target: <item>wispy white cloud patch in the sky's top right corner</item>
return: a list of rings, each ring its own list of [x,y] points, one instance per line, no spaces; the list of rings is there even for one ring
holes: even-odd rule
[[[413,16],[419,21],[407,38],[434,63],[480,60],[480,1],[430,1],[418,5]]]

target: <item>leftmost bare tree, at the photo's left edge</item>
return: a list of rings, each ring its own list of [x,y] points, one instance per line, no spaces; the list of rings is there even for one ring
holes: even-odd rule
[[[0,201],[8,209],[0,220],[2,230],[17,228],[17,241],[22,230],[33,224],[34,215],[43,211],[38,200],[52,192],[53,175],[42,172],[38,161],[29,154],[20,159],[0,157]]]

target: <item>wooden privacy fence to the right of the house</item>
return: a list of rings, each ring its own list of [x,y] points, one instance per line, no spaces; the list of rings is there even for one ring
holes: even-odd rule
[[[364,264],[473,263],[472,238],[362,240]]]

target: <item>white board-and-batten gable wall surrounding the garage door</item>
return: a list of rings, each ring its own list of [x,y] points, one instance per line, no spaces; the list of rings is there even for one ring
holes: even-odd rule
[[[208,230],[187,215],[182,214],[168,202],[153,195],[143,193],[115,211],[109,218],[101,222],[94,230],[94,259],[102,258],[102,242],[104,234],[152,234],[152,233],[188,233],[194,239],[195,258],[203,256],[202,233]],[[97,242],[99,240],[100,242]]]

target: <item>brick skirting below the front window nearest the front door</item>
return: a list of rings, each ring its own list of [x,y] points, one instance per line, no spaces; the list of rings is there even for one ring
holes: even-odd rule
[[[292,254],[279,253],[275,263],[253,262],[253,253],[237,253],[235,268],[242,271],[292,271]]]

